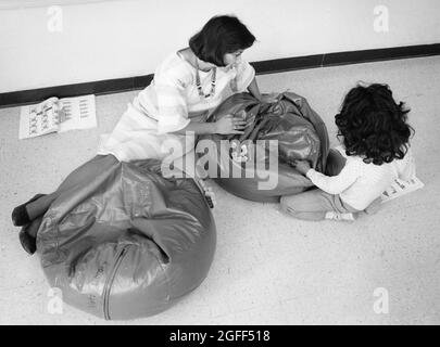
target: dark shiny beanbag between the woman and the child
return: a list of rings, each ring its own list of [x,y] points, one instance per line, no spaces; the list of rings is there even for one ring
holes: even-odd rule
[[[268,104],[250,93],[234,94],[209,121],[235,115],[247,121],[244,133],[199,139],[196,151],[200,165],[222,188],[239,197],[279,202],[281,195],[312,187],[292,167],[296,159],[309,160],[317,171],[325,170],[329,141],[323,119],[296,93],[281,93],[277,100]]]

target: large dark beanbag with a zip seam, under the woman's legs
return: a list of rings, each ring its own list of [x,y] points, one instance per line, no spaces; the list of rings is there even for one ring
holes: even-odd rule
[[[192,179],[163,178],[159,160],[115,160],[51,204],[37,253],[64,303],[121,320],[159,313],[200,285],[215,243]]]

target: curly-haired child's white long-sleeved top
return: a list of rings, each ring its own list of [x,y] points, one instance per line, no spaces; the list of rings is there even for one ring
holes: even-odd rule
[[[339,175],[330,177],[310,169],[306,177],[323,191],[339,194],[344,203],[355,209],[364,210],[391,185],[394,179],[407,181],[415,177],[415,162],[411,149],[402,159],[382,165],[365,164],[359,156],[348,156],[342,146],[335,150],[347,158],[345,166]]]

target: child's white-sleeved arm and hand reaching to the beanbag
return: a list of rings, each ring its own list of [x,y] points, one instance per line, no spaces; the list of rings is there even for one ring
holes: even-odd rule
[[[306,164],[304,164],[306,163]],[[361,176],[356,163],[347,164],[337,176],[325,176],[312,169],[307,162],[297,162],[297,170],[305,175],[313,184],[328,194],[340,194]]]

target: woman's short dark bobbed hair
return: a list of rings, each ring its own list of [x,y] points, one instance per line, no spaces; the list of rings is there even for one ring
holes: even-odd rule
[[[223,56],[250,48],[255,37],[235,16],[214,16],[189,39],[189,47],[200,60],[225,66]]]

